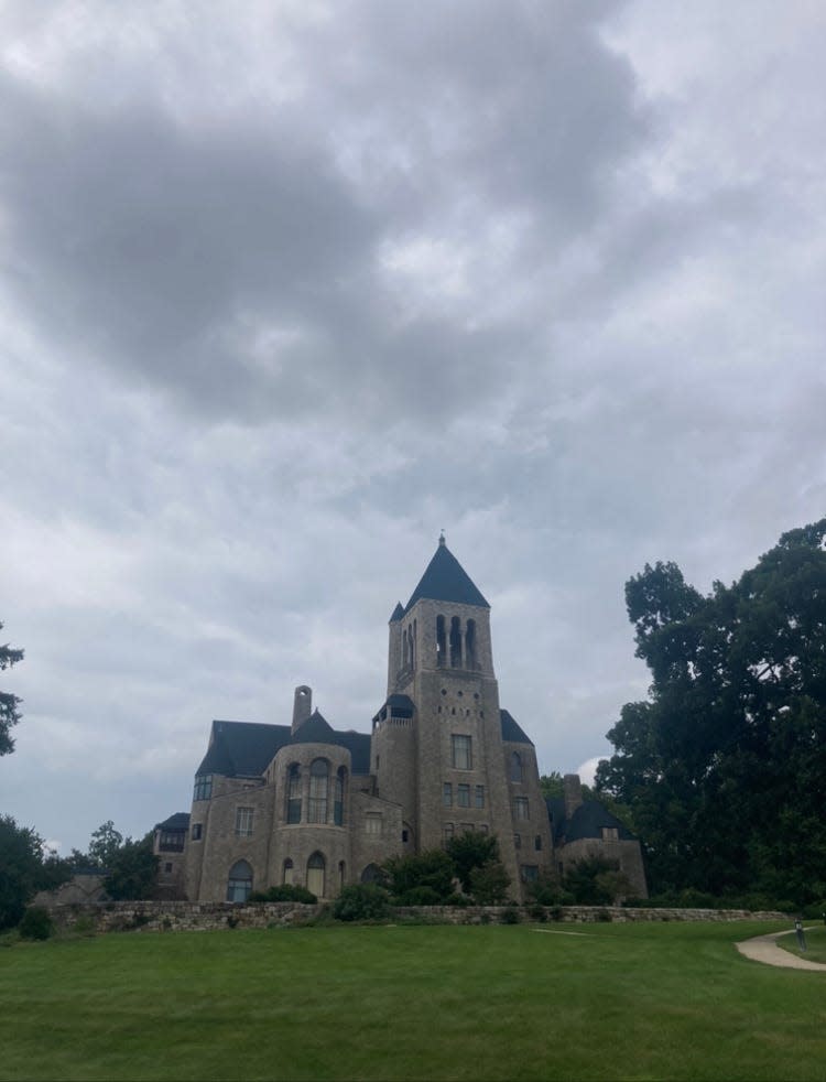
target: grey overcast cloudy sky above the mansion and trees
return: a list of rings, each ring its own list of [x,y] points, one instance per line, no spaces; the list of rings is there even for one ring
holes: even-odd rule
[[[626,580],[826,512],[822,0],[4,0],[0,56],[0,812],[62,852],[296,684],[369,732],[442,528],[568,771]]]

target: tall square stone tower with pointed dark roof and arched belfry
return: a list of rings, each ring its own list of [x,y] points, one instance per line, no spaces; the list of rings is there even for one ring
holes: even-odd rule
[[[490,605],[444,537],[391,617],[388,670],[373,731],[379,793],[402,804],[419,852],[467,830],[497,834],[515,880]]]

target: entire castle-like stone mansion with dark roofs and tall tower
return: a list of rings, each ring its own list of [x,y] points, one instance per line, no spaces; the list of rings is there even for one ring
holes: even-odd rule
[[[607,809],[540,791],[530,738],[499,705],[490,606],[439,539],[390,618],[387,699],[372,733],[334,729],[295,691],[291,725],[213,722],[192,812],[159,824],[169,896],[243,901],[293,883],[333,898],[391,856],[463,831],[496,834],[513,897],[593,853],[645,895],[639,844]]]

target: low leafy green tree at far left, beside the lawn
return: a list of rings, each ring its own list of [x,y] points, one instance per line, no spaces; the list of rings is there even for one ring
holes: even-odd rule
[[[52,890],[69,874],[35,831],[0,815],[0,929],[13,928],[39,890]]]

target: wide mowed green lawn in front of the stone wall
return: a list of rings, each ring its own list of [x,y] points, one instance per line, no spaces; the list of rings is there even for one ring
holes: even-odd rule
[[[826,1079],[764,923],[123,933],[0,951],[2,1079]]]

